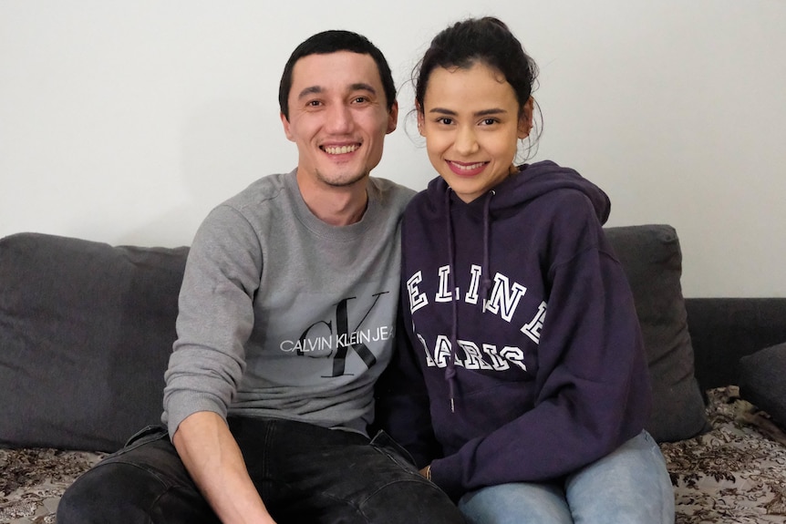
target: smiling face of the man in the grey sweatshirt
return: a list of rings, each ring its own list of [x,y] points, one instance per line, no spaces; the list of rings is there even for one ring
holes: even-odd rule
[[[298,175],[333,187],[363,180],[382,158],[385,135],[396,128],[377,64],[369,55],[339,51],[295,62],[286,138],[297,144]]]

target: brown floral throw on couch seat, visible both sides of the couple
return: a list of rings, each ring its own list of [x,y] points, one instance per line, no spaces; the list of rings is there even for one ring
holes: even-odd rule
[[[677,524],[786,524],[786,433],[739,398],[736,386],[708,391],[712,431],[662,444]],[[0,524],[55,522],[74,478],[104,457],[55,449],[0,449]]]

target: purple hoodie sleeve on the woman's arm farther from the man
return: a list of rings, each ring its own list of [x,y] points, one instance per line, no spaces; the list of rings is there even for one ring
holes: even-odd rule
[[[564,227],[551,228],[567,232],[553,238],[547,266],[534,406],[432,462],[433,481],[454,499],[574,472],[635,437],[649,416],[646,357],[626,275],[595,216],[576,222],[573,209]]]

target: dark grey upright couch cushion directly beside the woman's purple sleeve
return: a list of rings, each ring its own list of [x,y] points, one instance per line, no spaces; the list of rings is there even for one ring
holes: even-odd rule
[[[653,394],[646,429],[658,442],[693,437],[708,423],[694,376],[677,231],[668,225],[605,231],[625,269],[644,336]]]

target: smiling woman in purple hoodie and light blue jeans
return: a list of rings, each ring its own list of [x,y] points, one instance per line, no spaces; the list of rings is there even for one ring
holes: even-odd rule
[[[418,128],[440,176],[402,225],[409,347],[381,416],[470,522],[673,522],[609,200],[574,170],[513,163],[535,77],[489,17],[445,29],[420,62]]]

